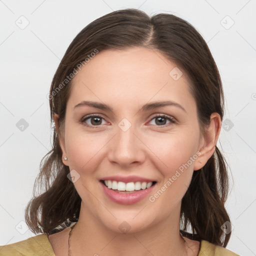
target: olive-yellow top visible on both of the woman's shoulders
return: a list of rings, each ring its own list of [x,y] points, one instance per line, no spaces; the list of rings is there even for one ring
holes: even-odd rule
[[[0,256],[55,256],[47,234],[38,234],[19,242],[0,246]],[[214,245],[206,240],[200,241],[198,256],[239,256],[234,252]]]

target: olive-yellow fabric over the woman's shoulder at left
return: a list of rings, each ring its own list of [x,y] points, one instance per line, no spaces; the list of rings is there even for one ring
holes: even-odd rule
[[[0,256],[55,256],[46,234],[38,234],[19,242],[0,246]]]

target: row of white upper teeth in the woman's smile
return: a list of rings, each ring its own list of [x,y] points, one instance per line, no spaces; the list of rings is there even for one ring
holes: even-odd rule
[[[152,182],[128,182],[124,183],[122,181],[117,182],[116,180],[104,180],[105,185],[108,188],[111,188],[113,190],[118,191],[134,191],[134,190],[140,190],[140,189],[146,189],[149,188],[152,185]]]

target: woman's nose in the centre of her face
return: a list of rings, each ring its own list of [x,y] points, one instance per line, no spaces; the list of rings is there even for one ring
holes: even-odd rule
[[[109,141],[108,160],[119,164],[121,168],[129,168],[131,164],[141,164],[145,160],[145,144],[131,125],[127,130],[116,129],[114,137]]]

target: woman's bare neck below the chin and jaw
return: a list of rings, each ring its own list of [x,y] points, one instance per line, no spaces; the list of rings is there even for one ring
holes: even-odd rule
[[[179,210],[138,232],[116,232],[105,227],[81,204],[79,219],[70,239],[71,255],[186,255],[179,233]]]

